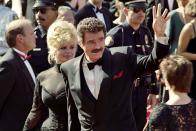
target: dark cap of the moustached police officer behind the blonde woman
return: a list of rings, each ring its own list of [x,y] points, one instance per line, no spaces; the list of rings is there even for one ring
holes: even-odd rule
[[[36,0],[33,8],[45,6],[53,6],[58,8],[61,5],[64,5],[64,0]]]

